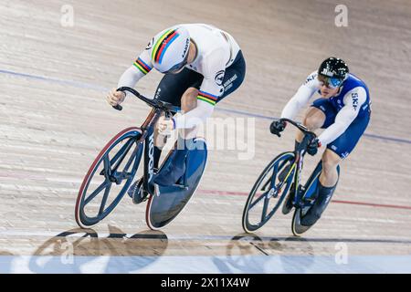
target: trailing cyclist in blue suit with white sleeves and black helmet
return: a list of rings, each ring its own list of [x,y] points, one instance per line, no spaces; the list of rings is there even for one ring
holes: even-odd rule
[[[370,93],[364,81],[350,74],[342,59],[329,57],[300,86],[282,110],[281,118],[294,119],[316,92],[321,98],[315,99],[311,104],[304,115],[303,124],[310,130],[325,130],[311,142],[307,152],[315,155],[321,145],[327,148],[321,157],[322,171],[317,200],[300,221],[305,226],[311,226],[320,219],[338,183],[337,167],[353,151],[371,116]],[[285,123],[276,120],[272,122],[270,130],[280,136],[285,127]],[[299,131],[296,143],[302,141],[302,138],[303,134]],[[289,196],[283,207],[284,214],[290,213],[292,209],[290,201]]]

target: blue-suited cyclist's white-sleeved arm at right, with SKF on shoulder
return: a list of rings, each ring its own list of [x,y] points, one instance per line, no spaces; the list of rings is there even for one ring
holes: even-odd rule
[[[358,87],[348,91],[344,96],[344,106],[335,116],[334,123],[318,137],[321,145],[327,145],[342,135],[358,116],[367,98],[365,89]]]

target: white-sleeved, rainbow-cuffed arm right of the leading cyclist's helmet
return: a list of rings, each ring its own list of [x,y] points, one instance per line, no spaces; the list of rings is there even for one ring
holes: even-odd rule
[[[213,114],[216,101],[224,93],[220,80],[226,70],[225,55],[225,51],[215,50],[213,56],[206,57],[204,79],[197,95],[197,107],[174,120],[176,129],[193,128]]]

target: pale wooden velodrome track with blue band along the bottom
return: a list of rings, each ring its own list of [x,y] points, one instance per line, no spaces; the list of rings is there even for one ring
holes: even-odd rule
[[[0,273],[411,272],[411,4],[345,3],[348,27],[334,25],[334,1],[76,0],[74,26],[64,27],[65,1],[3,0]],[[195,197],[162,232],[148,231],[145,206],[124,197],[85,235],[74,220],[85,172],[115,133],[149,110],[133,99],[112,110],[106,92],[155,33],[176,23],[213,24],[236,37],[247,78],[214,117],[254,122],[255,154],[239,160],[244,150],[209,151]],[[282,139],[269,134],[269,118],[332,55],[368,84],[371,125],[343,162],[328,210],[302,239],[282,214],[244,235],[252,184],[293,145],[293,130]],[[153,96],[160,78],[152,73],[137,88]],[[319,158],[308,158],[306,168]],[[341,251],[345,265],[334,261]]]

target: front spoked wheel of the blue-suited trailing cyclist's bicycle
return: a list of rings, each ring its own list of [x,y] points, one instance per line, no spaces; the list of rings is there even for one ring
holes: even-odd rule
[[[248,195],[243,212],[243,229],[247,233],[252,233],[262,227],[279,209],[290,190],[294,172],[291,169],[293,160],[293,152],[281,153],[269,162],[266,169],[259,175]],[[284,171],[285,169],[288,170]],[[288,172],[290,175],[287,176]]]

